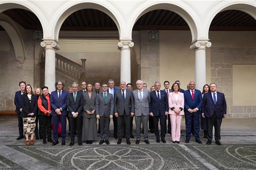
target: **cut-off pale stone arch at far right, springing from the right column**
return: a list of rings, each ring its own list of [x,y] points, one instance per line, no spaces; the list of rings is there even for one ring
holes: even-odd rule
[[[224,10],[240,10],[248,13],[254,19],[256,19],[255,3],[246,2],[246,1],[228,1],[228,0],[216,1],[209,7],[209,10],[207,12],[208,15],[204,19],[206,21],[205,31],[207,32],[207,35],[206,35],[207,37],[208,37],[211,21],[213,20],[213,18],[216,16],[217,13]]]

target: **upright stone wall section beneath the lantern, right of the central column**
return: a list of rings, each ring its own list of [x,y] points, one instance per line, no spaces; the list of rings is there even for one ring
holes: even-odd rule
[[[159,81],[159,41],[148,42],[148,30],[140,31],[140,78],[147,89]]]

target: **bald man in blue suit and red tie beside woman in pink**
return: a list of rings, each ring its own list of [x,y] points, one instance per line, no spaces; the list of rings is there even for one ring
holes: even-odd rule
[[[194,131],[195,141],[201,144],[199,137],[200,130],[200,107],[202,105],[201,91],[195,89],[194,81],[189,82],[189,89],[184,91],[184,112],[185,112],[185,124],[186,124],[186,143],[189,143],[191,137],[191,129]],[[193,125],[192,125],[193,122]]]

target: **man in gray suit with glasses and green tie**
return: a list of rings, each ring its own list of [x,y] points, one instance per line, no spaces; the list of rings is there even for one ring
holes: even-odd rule
[[[99,144],[106,142],[109,144],[109,118],[113,118],[114,99],[111,93],[107,93],[107,83],[102,84],[102,92],[96,96],[96,118],[100,124]]]

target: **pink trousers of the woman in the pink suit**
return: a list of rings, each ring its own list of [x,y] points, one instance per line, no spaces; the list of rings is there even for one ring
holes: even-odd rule
[[[180,138],[180,124],[183,115],[169,114],[171,124],[171,139],[172,141],[179,141]]]

